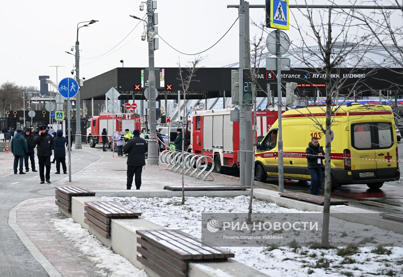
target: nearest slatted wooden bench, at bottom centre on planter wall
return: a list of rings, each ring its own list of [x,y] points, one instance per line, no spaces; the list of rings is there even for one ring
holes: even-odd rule
[[[161,277],[187,277],[189,262],[226,261],[235,257],[179,230],[137,230],[137,260]]]

